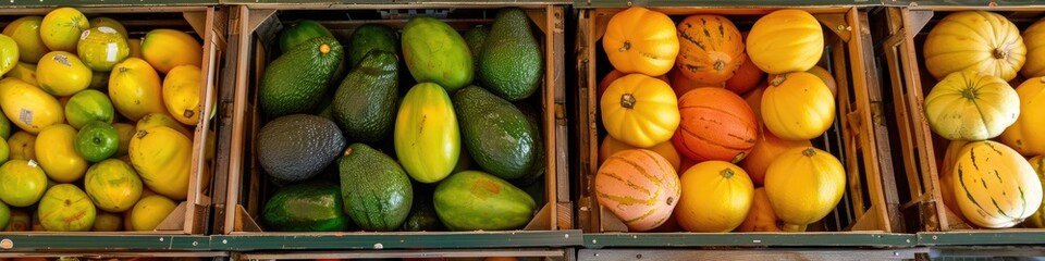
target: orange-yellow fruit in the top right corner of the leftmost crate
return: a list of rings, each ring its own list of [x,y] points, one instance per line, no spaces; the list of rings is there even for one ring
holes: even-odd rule
[[[184,32],[155,29],[142,39],[142,57],[149,61],[156,71],[167,73],[177,65],[200,66],[204,47]]]

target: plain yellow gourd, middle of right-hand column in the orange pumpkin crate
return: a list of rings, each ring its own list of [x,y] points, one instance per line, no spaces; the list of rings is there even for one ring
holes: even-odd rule
[[[812,139],[835,122],[835,99],[815,75],[780,74],[762,94],[762,122],[783,139]]]

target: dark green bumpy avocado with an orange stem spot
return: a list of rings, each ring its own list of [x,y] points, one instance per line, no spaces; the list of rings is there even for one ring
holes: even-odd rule
[[[327,92],[344,60],[341,44],[320,36],[291,48],[266,67],[258,88],[261,111],[270,117],[310,112]]]

